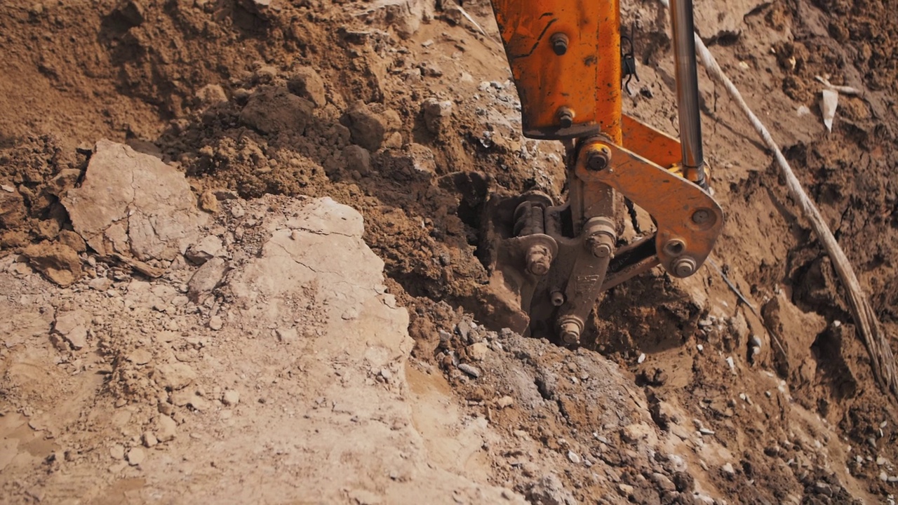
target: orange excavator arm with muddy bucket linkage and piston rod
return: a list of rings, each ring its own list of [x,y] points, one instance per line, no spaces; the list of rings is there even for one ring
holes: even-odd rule
[[[577,344],[603,290],[661,265],[688,277],[724,222],[701,154],[691,0],[672,2],[682,144],[622,114],[619,0],[492,0],[521,100],[524,136],[566,146],[567,200],[489,201],[490,283],[518,332]],[[617,195],[654,235],[621,244]]]

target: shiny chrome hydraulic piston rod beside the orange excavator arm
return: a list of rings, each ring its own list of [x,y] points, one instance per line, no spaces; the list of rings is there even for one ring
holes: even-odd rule
[[[671,25],[674,29],[674,63],[676,66],[677,116],[680,119],[682,164],[687,173],[696,172],[704,164],[701,152],[701,118],[699,114],[699,77],[695,59],[695,24],[692,0],[670,0]],[[697,173],[703,174],[698,170]]]

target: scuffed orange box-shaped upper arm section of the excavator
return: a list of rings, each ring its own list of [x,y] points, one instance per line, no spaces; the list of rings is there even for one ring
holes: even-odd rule
[[[492,5],[521,98],[524,136],[574,138],[602,131],[620,144],[620,0]],[[561,107],[577,111],[570,127],[559,125]]]

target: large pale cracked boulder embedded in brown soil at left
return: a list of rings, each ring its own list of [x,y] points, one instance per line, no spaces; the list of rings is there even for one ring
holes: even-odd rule
[[[173,260],[207,217],[184,174],[155,156],[97,142],[84,183],[62,199],[75,231],[102,255]]]

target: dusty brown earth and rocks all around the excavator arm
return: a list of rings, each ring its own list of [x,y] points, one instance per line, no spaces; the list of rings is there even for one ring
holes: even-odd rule
[[[898,351],[898,6],[696,5]],[[622,8],[675,134],[665,12]],[[0,47],[4,502],[894,503],[895,403],[706,75],[713,262],[568,350],[489,318],[485,199],[564,181],[488,3],[4,3]],[[832,132],[818,75],[862,92]]]

